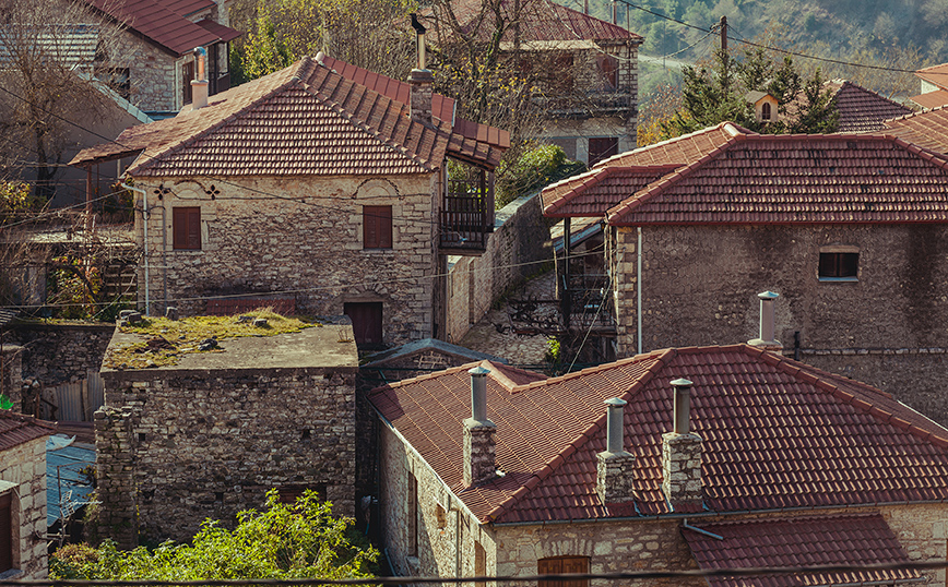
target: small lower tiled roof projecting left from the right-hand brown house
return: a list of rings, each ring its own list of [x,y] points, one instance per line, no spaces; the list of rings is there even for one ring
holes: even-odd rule
[[[543,215],[603,216],[607,209],[682,165],[600,167],[544,188]]]

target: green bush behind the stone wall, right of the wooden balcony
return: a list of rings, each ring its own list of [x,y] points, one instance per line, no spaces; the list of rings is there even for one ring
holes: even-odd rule
[[[562,147],[532,145],[512,164],[501,161],[497,170],[497,207],[582,171],[585,171],[585,164],[567,159]]]

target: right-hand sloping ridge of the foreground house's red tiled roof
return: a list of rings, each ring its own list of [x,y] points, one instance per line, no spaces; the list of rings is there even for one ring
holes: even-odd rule
[[[852,385],[854,387],[868,387],[870,390],[874,390],[872,386],[869,386],[865,383],[862,383],[862,382],[858,382],[855,380],[849,380],[849,379],[843,378],[842,375],[837,375],[834,373],[823,371],[822,369],[810,367],[806,363],[799,363],[798,366],[794,366],[794,364],[791,364],[791,361],[793,363],[796,363],[797,361],[793,361],[792,359],[777,355],[775,352],[768,352],[763,349],[751,347],[750,345],[745,344],[745,345],[737,345],[737,346],[744,347],[745,349],[753,349],[753,351],[757,352],[758,356],[760,356],[760,354],[767,354],[768,356],[775,358],[777,361],[773,363],[773,367],[780,369],[781,371],[783,371],[784,373],[786,373],[793,378],[803,380],[803,381],[809,383],[810,385],[813,385],[817,388],[820,388],[827,393],[830,393],[837,399],[843,402],[844,404],[852,406],[853,408],[855,408],[855,409],[857,409],[864,414],[872,416],[878,422],[881,422],[884,424],[890,424],[890,426],[893,426],[894,428],[902,429],[902,430],[909,432],[910,434],[912,434],[913,436],[916,436],[917,439],[920,439],[922,441],[931,442],[931,443],[936,444],[943,448],[948,447],[948,438],[939,436],[936,432],[921,428],[917,424],[913,424],[913,423],[909,422],[908,420],[900,418],[896,414],[889,414],[888,411],[884,410],[882,408],[876,406],[870,400],[872,398],[869,398],[865,395],[862,395],[862,394],[854,394],[854,393],[841,390],[839,386],[837,386],[836,384],[833,384],[827,380],[836,380],[837,382],[844,380],[848,385]],[[748,352],[748,355],[749,355],[749,352]],[[810,372],[810,371],[816,371],[816,373]],[[894,399],[894,398],[892,398],[892,399]],[[894,399],[894,400],[898,402],[897,399]],[[919,415],[921,415],[927,419],[927,416],[925,416],[924,414],[921,414],[916,410],[913,410],[911,407],[906,406],[905,404],[902,404],[901,402],[898,402],[898,403],[904,409],[909,409],[911,411],[914,411],[915,414],[919,414]],[[888,416],[888,418],[886,418],[886,416]],[[897,421],[893,422],[893,420],[897,420]],[[929,419],[929,421],[931,421],[931,419]],[[933,422],[933,423],[935,423],[935,422]]]

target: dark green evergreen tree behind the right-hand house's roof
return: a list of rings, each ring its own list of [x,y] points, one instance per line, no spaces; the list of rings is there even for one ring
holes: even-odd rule
[[[683,74],[682,109],[662,124],[664,139],[726,120],[769,134],[834,132],[838,127],[839,111],[820,70],[804,84],[790,56],[773,62],[759,47],[745,49],[742,59],[718,50],[713,68],[687,67]],[[779,120],[757,121],[746,98],[753,91],[777,98]]]

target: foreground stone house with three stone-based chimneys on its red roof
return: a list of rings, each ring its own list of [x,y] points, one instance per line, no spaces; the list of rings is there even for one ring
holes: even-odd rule
[[[761,348],[656,350],[550,379],[483,361],[380,387],[370,400],[382,423],[384,546],[401,575],[946,554],[948,431],[886,393]],[[794,579],[940,584],[945,573]]]

